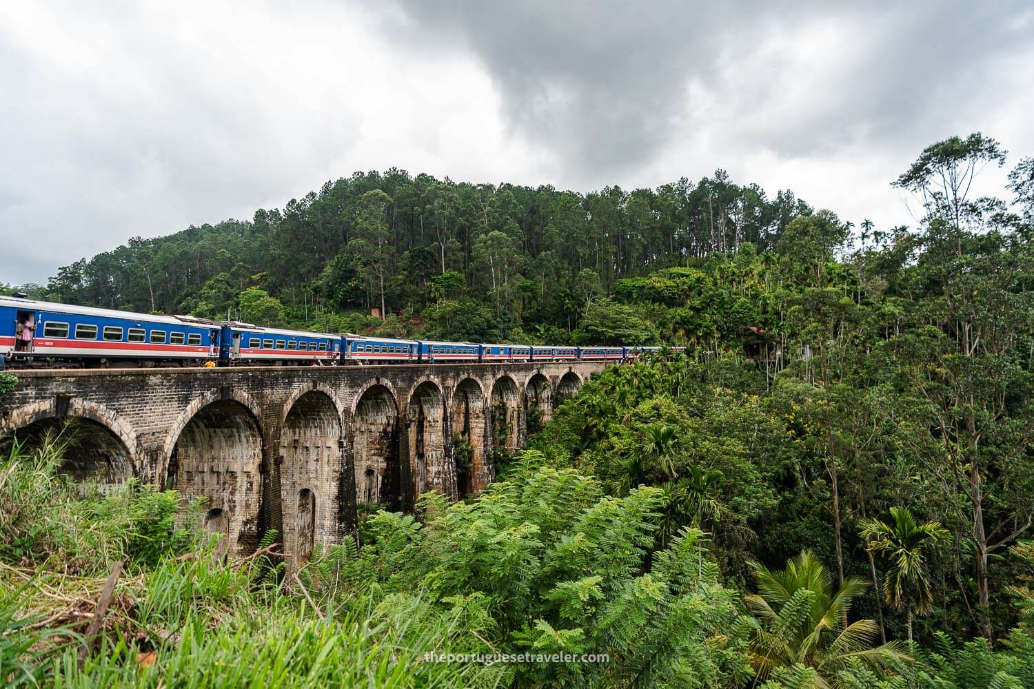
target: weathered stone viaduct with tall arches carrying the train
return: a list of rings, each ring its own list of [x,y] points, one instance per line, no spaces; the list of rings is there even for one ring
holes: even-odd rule
[[[548,418],[606,366],[19,371],[0,396],[0,435],[61,432],[64,472],[102,487],[135,477],[184,505],[207,498],[205,525],[232,550],[276,529],[301,561],[355,537],[357,504],[478,494],[494,476],[491,448],[523,442],[528,410]]]

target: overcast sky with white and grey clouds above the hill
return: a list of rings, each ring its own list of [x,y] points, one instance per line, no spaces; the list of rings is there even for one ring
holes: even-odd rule
[[[927,144],[1034,155],[1032,85],[1026,0],[4,2],[0,282],[391,166],[579,191],[723,167],[913,224],[889,183]]]

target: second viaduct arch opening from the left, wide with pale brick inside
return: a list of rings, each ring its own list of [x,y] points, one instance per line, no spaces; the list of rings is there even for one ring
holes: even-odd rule
[[[184,506],[205,498],[210,523],[225,521],[227,545],[238,553],[253,551],[261,537],[262,452],[262,432],[247,407],[217,401],[190,417],[169,459],[165,484],[179,491]]]

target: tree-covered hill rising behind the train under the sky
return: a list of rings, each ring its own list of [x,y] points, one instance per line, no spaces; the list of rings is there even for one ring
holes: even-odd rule
[[[770,199],[722,170],[697,184],[584,195],[357,173],[250,221],[130,240],[62,268],[42,292],[335,332],[409,333],[418,314],[436,337],[562,343],[586,305],[621,279],[748,243],[773,249],[790,221],[811,212],[789,191]],[[382,305],[387,323],[364,317]]]

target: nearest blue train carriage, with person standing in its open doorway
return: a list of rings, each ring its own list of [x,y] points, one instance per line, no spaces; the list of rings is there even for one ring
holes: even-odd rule
[[[14,366],[87,361],[184,366],[216,358],[219,338],[219,325],[201,318],[0,296],[0,355]]]

